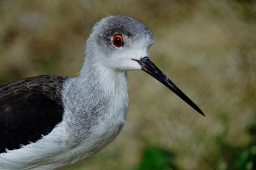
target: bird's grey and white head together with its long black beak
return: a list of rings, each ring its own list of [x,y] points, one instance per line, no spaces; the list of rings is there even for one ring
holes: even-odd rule
[[[86,57],[97,66],[115,71],[143,70],[163,83],[198,113],[196,106],[157,66],[149,59],[148,50],[153,43],[152,32],[147,26],[124,16],[103,18],[93,27],[87,40]]]

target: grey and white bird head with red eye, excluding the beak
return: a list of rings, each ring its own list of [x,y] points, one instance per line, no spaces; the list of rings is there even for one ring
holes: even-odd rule
[[[87,46],[95,49],[93,60],[110,69],[129,71],[141,69],[136,60],[148,56],[152,43],[152,32],[141,22],[129,17],[111,16],[95,24]]]

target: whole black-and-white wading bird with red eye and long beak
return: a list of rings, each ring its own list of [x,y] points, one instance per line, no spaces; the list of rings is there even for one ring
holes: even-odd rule
[[[0,86],[0,169],[57,169],[99,152],[127,117],[127,71],[143,70],[196,106],[148,57],[152,32],[134,18],[102,18],[76,77],[41,75]]]

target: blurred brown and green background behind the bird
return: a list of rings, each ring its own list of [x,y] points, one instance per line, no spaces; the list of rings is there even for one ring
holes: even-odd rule
[[[129,73],[118,138],[72,169],[256,169],[255,1],[0,1],[0,83],[76,76],[93,24],[108,15],[154,33],[150,57],[202,117],[143,71]]]

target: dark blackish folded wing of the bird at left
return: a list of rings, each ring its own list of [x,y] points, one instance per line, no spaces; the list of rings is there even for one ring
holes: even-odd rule
[[[0,153],[35,142],[62,120],[63,76],[36,76],[0,86]]]

